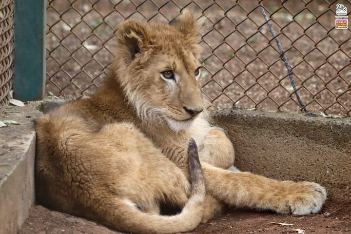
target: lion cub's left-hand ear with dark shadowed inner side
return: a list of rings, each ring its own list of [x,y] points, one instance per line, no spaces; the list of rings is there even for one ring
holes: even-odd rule
[[[148,31],[145,24],[136,20],[127,20],[118,27],[116,38],[118,45],[127,48],[130,59],[134,60],[146,49]]]

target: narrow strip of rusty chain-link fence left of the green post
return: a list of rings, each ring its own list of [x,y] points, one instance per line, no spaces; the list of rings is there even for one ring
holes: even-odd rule
[[[10,99],[13,77],[14,0],[0,1],[0,114]]]

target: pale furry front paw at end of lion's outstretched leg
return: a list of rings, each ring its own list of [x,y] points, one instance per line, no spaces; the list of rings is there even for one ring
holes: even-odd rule
[[[290,184],[287,193],[285,199],[283,198],[286,206],[278,211],[282,214],[316,214],[327,199],[327,191],[324,187],[307,181]]]

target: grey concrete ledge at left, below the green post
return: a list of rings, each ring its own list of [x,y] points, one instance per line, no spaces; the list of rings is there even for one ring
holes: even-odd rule
[[[16,120],[0,128],[0,234],[14,234],[27,218],[35,200],[35,105],[7,107],[0,120]]]

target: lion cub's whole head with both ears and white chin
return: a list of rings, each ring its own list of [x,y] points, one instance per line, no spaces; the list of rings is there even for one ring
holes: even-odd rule
[[[119,26],[114,70],[143,120],[166,121],[179,131],[203,111],[200,26],[188,11],[169,25],[127,20]]]

